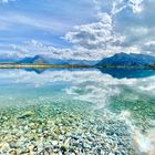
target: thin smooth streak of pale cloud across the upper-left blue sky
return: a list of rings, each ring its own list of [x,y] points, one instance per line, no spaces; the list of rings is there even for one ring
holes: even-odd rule
[[[71,27],[70,23],[64,23],[50,17],[38,17],[29,13],[21,12],[4,12],[0,14],[0,30],[18,30],[17,25],[20,25],[21,30],[29,28],[30,30],[43,30],[44,33],[63,33]]]

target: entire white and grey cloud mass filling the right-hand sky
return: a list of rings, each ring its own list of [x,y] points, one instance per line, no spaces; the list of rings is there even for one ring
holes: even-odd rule
[[[151,53],[153,45],[144,50],[142,44],[154,40],[154,27],[149,25],[155,25],[151,11],[151,6],[155,6],[153,0],[94,0],[94,3],[97,21],[74,27],[65,40],[83,51],[94,52],[96,59],[118,52]]]

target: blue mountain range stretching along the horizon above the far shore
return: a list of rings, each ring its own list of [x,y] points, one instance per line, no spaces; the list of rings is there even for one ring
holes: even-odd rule
[[[51,59],[45,55],[35,55],[31,58],[23,59],[11,59],[0,56],[0,62],[16,62],[20,64],[81,64],[81,65],[93,65],[93,66],[140,66],[140,65],[155,65],[155,56],[146,54],[135,54],[135,53],[117,53],[111,58],[104,58],[101,61],[83,61],[83,60],[59,60]]]

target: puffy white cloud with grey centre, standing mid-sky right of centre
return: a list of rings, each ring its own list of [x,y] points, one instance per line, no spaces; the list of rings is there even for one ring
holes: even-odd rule
[[[99,18],[99,22],[74,27],[74,31],[66,33],[65,39],[89,50],[104,50],[120,41],[113,31],[112,18],[107,13],[100,13]]]

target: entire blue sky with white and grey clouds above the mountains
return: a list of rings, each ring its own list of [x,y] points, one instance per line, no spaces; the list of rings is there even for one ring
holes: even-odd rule
[[[155,0],[0,0],[0,58],[155,55]]]

